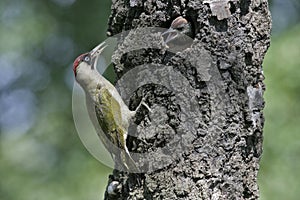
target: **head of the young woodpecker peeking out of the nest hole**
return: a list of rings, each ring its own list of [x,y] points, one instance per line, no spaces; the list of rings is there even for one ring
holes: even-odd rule
[[[177,17],[173,20],[170,28],[163,33],[166,36],[165,42],[168,43],[174,39],[180,38],[182,34],[191,36],[191,24],[182,16]]]

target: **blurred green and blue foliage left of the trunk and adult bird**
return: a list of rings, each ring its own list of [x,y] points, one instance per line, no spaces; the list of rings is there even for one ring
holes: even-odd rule
[[[0,2],[0,199],[99,199],[111,169],[72,118],[72,62],[105,39],[109,1]]]

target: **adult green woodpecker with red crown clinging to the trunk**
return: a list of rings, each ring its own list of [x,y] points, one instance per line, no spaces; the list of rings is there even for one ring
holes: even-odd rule
[[[97,71],[97,60],[105,47],[103,42],[76,58],[75,79],[85,92],[89,117],[105,148],[115,162],[121,161],[124,170],[138,172],[126,146],[128,127],[141,105],[150,108],[142,100],[135,111],[129,110],[117,89]]]

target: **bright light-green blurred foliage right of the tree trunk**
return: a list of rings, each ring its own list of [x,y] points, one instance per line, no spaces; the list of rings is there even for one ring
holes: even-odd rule
[[[263,200],[300,196],[300,25],[274,37],[264,60]]]

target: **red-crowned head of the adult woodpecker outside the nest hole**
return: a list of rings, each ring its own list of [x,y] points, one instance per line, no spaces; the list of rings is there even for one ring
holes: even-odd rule
[[[96,46],[92,51],[81,54],[73,63],[73,72],[76,81],[84,86],[88,84],[94,75],[98,74],[97,61],[101,52],[105,49],[105,43]]]

